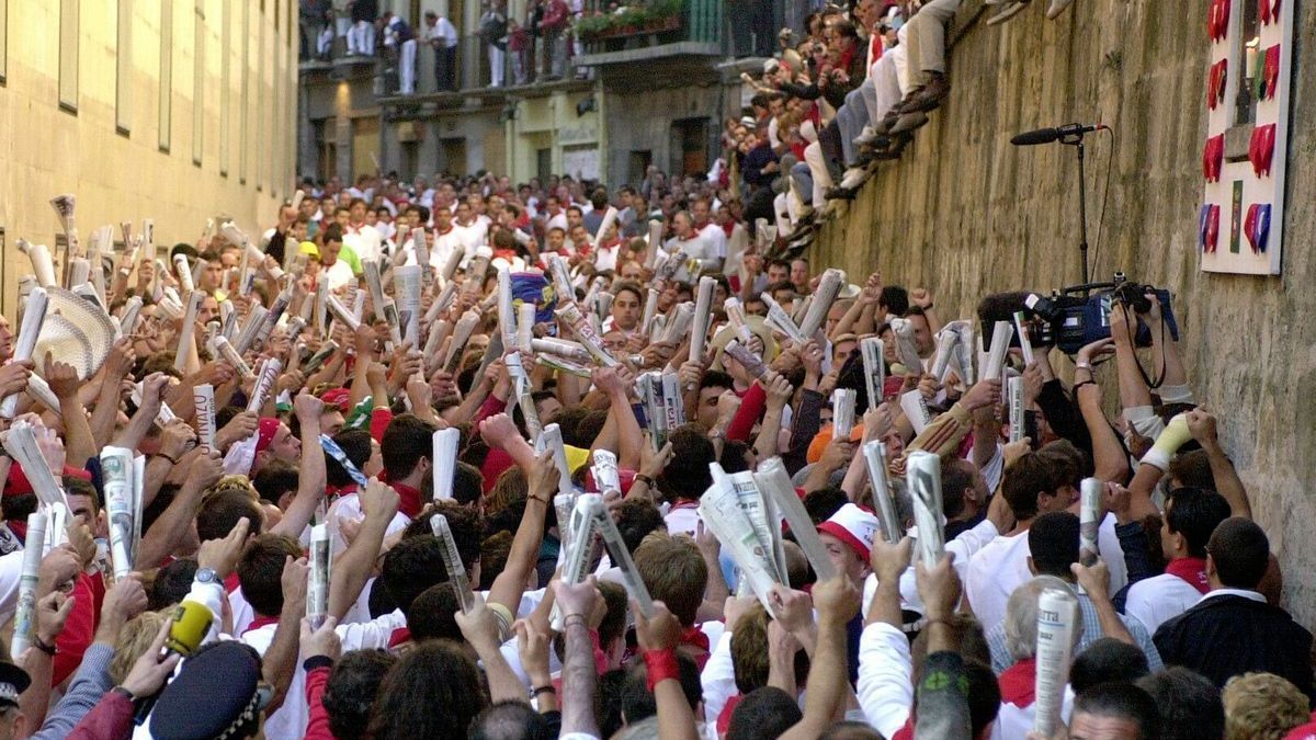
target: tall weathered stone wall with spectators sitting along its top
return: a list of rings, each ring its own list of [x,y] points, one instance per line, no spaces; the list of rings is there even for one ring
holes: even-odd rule
[[[1312,627],[1316,169],[1303,165],[1316,155],[1316,50],[1304,43],[1316,38],[1316,7],[1299,3],[1295,16],[1288,157],[1298,166],[1288,167],[1283,274],[1250,278],[1198,269],[1205,0],[1076,0],[1054,22],[1046,3],[1033,5],[1004,26],[980,16],[963,28],[949,100],[824,228],[816,265],[928,286],[942,317],[967,316],[986,292],[1078,283],[1074,153],[1015,147],[1009,137],[1109,124],[1113,142],[1088,137],[1092,274],[1125,270],[1175,294],[1194,387],[1223,413],[1227,449],[1283,564],[1287,606]]]

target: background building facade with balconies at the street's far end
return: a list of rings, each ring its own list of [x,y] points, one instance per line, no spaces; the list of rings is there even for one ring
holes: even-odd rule
[[[649,165],[704,172],[719,157],[720,117],[738,116],[745,103],[740,71],[775,43],[783,18],[799,21],[780,0],[629,4],[642,16],[608,13],[603,0],[569,1],[582,12],[554,70],[544,37],[524,30],[536,17],[526,0],[507,4],[507,49],[495,55],[480,33],[484,3],[382,0],[380,13],[396,13],[420,36],[415,92],[400,95],[396,58],[383,49],[349,55],[351,21],[342,0],[333,4],[328,54],[301,62],[299,174],[345,183],[376,169],[404,180],[490,171],[513,182],[567,174],[609,186],[638,182]],[[745,32],[759,5],[758,33]],[[425,42],[426,12],[458,34],[451,90],[441,88],[437,51]]]

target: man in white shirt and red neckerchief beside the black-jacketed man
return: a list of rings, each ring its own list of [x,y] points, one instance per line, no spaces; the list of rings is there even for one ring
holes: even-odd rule
[[[1161,552],[1169,564],[1161,575],[1129,586],[1124,614],[1137,618],[1154,633],[1198,603],[1211,590],[1207,541],[1225,519],[1229,502],[1220,494],[1203,489],[1170,491],[1161,520]]]

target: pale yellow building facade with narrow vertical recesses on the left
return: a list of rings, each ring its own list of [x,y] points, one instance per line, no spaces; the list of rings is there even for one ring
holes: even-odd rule
[[[74,194],[83,238],[155,223],[167,248],[207,217],[268,225],[295,166],[293,0],[0,0],[0,307],[54,246]],[[62,238],[62,237],[61,237]]]

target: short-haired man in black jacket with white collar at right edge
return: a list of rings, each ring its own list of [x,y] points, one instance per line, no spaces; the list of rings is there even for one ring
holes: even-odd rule
[[[1220,687],[1241,673],[1274,673],[1312,698],[1312,635],[1257,593],[1269,566],[1270,540],[1261,527],[1242,517],[1221,521],[1207,542],[1211,591],[1155,632],[1165,662]]]

